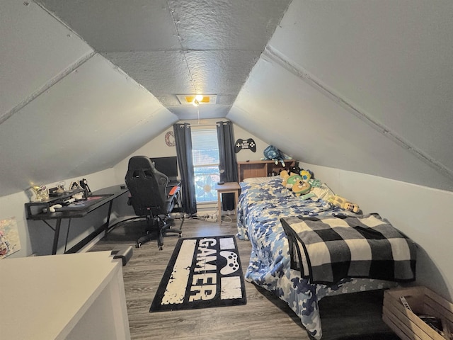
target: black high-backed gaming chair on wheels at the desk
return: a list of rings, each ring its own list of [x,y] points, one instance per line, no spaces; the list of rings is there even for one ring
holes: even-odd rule
[[[164,249],[164,235],[173,232],[182,237],[184,213],[179,229],[173,229],[174,221],[170,217],[175,205],[182,210],[180,187],[168,187],[168,177],[157,171],[149,157],[134,156],[129,159],[125,177],[130,192],[129,204],[135,215],[146,217],[147,234],[137,240],[137,248],[153,238],[152,232],[158,233],[157,244]]]

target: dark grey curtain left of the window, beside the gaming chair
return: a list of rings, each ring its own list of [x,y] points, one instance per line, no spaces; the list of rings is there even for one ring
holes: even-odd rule
[[[173,133],[176,142],[176,155],[181,175],[181,189],[184,212],[195,215],[197,212],[197,199],[195,197],[195,177],[192,159],[192,131],[190,124],[174,124]]]

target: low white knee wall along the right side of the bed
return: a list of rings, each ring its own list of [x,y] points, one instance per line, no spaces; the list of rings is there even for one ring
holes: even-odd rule
[[[378,212],[411,237],[418,244],[416,283],[452,300],[452,192],[324,166],[301,166],[363,212]]]

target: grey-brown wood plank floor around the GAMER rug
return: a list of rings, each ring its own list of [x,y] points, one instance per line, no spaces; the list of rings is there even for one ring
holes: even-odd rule
[[[117,225],[91,251],[134,246],[143,230],[139,222]],[[186,219],[183,225],[183,237],[226,234],[236,234],[235,221],[219,226],[217,222]],[[162,251],[155,240],[134,248],[132,259],[122,267],[132,339],[311,339],[285,302],[248,282],[247,305],[150,313],[149,306],[177,241],[176,235],[165,237]],[[238,240],[238,246],[245,273],[251,245]],[[323,340],[398,339],[382,322],[382,292],[357,293],[352,299],[326,297],[320,305]]]

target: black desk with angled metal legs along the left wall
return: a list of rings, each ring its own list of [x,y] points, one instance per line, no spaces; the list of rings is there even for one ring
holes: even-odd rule
[[[57,254],[59,232],[61,229],[62,220],[64,220],[64,219],[68,220],[68,232],[69,232],[71,218],[84,217],[84,216],[88,215],[90,212],[92,212],[93,210],[96,210],[99,207],[109,203],[107,221],[103,225],[101,225],[101,227],[98,227],[94,232],[92,232],[87,237],[82,239],[81,242],[79,242],[75,246],[71,247],[71,249],[66,250],[67,239],[65,240],[64,253],[65,254],[76,253],[81,248],[83,248],[86,244],[88,244],[88,242],[90,242],[92,239],[94,239],[96,236],[98,236],[98,234],[101,234],[101,232],[108,231],[108,227],[110,224],[110,213],[112,212],[113,200],[127,192],[128,192],[127,188],[123,189],[119,185],[110,186],[108,188],[103,188],[101,190],[94,191],[91,194],[91,196],[88,196],[86,205],[75,205],[73,208],[68,206],[68,207],[59,209],[56,212],[38,212],[38,213],[32,214],[30,212],[30,205],[37,205],[37,203],[25,203],[25,209],[27,211],[27,220],[42,220],[42,222],[45,222],[45,224],[48,225],[54,231],[52,255],[55,255],[55,254]],[[98,199],[90,202],[90,197],[94,198],[96,196],[99,196]],[[54,202],[54,204],[57,204],[57,203],[58,203],[57,201]],[[45,204],[45,203],[43,203],[43,204]],[[48,220],[56,220],[55,227],[52,227],[52,225],[50,225]]]

